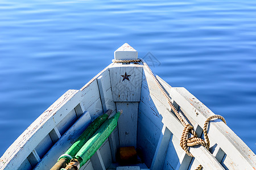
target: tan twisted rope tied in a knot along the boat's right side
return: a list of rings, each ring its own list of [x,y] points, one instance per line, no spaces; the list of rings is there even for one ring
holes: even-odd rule
[[[191,152],[189,152],[188,147],[202,145],[202,146],[204,146],[205,148],[207,148],[209,150],[210,141],[209,141],[208,134],[207,134],[207,128],[208,128],[209,121],[214,119],[214,118],[219,118],[220,120],[222,120],[226,124],[226,121],[225,121],[224,117],[222,117],[220,115],[213,115],[213,116],[210,116],[210,117],[207,118],[207,120],[204,122],[204,128],[203,128],[203,133],[204,133],[204,138],[205,138],[205,141],[204,141],[203,139],[197,137],[196,131],[193,130],[193,126],[190,125],[189,122],[187,120],[185,120],[181,116],[181,113],[178,112],[177,109],[174,107],[174,104],[172,104],[172,102],[171,102],[170,96],[164,90],[164,88],[160,84],[159,80],[156,78],[156,76],[154,75],[154,73],[152,72],[150,67],[147,65],[147,63],[143,61],[143,59],[141,59],[141,58],[138,58],[138,59],[119,59],[119,60],[112,59],[112,62],[113,63],[142,62],[142,64],[144,66],[146,66],[146,68],[150,72],[150,75],[155,80],[156,85],[159,87],[159,89],[162,92],[162,94],[164,95],[164,97],[166,97],[166,99],[168,101],[168,104],[170,105],[172,111],[174,111],[175,115],[177,116],[177,118],[179,118],[181,124],[184,126],[183,133],[181,134],[181,138],[180,138],[180,146],[181,146],[181,148],[183,148],[183,150],[189,156],[192,156],[192,157],[193,157],[193,155],[191,154]],[[189,137],[189,133],[191,133],[193,135],[193,137],[188,138]],[[202,168],[203,168],[202,165],[199,165],[196,168],[196,170],[200,170]]]

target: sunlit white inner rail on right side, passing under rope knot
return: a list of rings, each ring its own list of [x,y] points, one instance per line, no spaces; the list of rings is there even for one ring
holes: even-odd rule
[[[165,97],[161,94],[159,88],[156,86],[154,79],[152,79],[148,70],[144,70],[144,73],[146,75],[146,82],[148,88],[150,89],[151,99],[154,101],[156,109],[158,109],[158,112],[162,115],[163,123],[167,126],[168,129],[171,130],[171,133],[173,133],[177,138],[180,138],[181,133],[183,131],[183,126],[181,125],[180,121],[177,120],[174,114],[168,112],[167,109],[170,109],[170,106],[168,105]],[[197,160],[199,160],[199,162],[204,167],[207,167],[208,169],[222,169],[222,166],[212,156],[212,154],[210,154],[208,150],[205,150],[206,149],[203,147],[190,148],[191,153],[196,157]],[[202,155],[200,154],[204,154],[205,157],[203,158]]]

